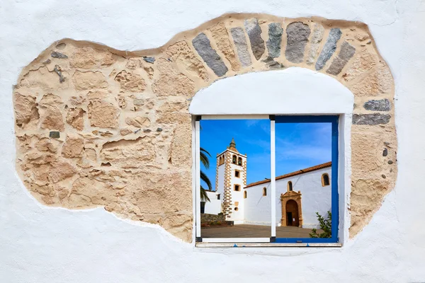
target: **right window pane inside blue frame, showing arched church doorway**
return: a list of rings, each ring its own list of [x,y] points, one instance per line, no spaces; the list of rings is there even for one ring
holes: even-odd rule
[[[330,122],[276,123],[276,238],[331,238],[331,150]]]

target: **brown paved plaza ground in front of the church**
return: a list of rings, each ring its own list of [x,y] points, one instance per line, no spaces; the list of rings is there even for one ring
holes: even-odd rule
[[[299,227],[276,227],[276,238],[310,238],[312,229]],[[322,230],[318,230],[317,233]],[[202,238],[268,238],[270,226],[240,224],[232,227],[201,229]]]

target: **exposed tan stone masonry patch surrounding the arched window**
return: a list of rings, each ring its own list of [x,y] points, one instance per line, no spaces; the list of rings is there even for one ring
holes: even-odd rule
[[[397,176],[392,75],[358,22],[226,14],[156,50],[55,42],[13,91],[16,170],[42,204],[104,207],[191,241],[190,99],[217,79],[294,66],[334,77],[355,96],[353,237]]]

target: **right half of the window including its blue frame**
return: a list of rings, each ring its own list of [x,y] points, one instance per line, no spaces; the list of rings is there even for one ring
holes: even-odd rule
[[[338,117],[276,116],[275,135],[276,242],[338,242],[338,189],[323,187],[338,170]]]

